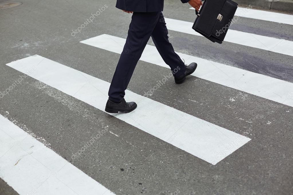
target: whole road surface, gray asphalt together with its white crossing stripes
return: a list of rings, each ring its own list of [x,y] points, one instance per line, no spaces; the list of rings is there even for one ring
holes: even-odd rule
[[[137,109],[108,114],[131,14],[22,3],[0,10],[1,195],[292,194],[293,15],[239,7],[217,44],[166,0],[169,41],[197,70],[176,85],[150,39],[125,96]]]

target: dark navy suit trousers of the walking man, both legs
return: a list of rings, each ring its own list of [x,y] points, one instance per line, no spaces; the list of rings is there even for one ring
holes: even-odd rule
[[[165,63],[170,66],[173,75],[184,74],[186,67],[168,41],[168,30],[162,12],[134,12],[126,43],[110,85],[109,100],[119,103],[124,98],[134,68],[150,37]]]

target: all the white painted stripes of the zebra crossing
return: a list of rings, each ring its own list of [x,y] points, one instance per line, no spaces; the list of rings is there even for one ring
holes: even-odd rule
[[[241,15],[242,9],[240,8],[236,15],[254,17],[257,20],[267,19],[263,18],[266,13],[264,11],[250,10],[250,15],[243,16]],[[293,25],[292,16],[272,14],[275,17],[271,17],[268,21],[280,22],[282,20],[286,24]],[[190,22],[171,18],[165,18],[165,20],[169,30],[199,36],[190,28],[192,26]],[[172,34],[172,32],[169,33]],[[239,47],[248,46],[293,56],[293,42],[285,39],[229,30],[226,41],[238,44]],[[78,44],[79,47],[89,45],[93,46],[93,49],[99,48],[120,54],[124,43],[124,38],[100,34],[80,41]],[[274,101],[278,105],[293,107],[293,99],[288,98],[288,94],[290,95],[293,89],[292,82],[188,54],[176,53],[184,58],[187,64],[193,61],[198,63],[197,70],[192,74],[194,78]],[[157,65],[158,68],[168,68],[152,45],[146,46],[140,60]],[[110,83],[105,80],[40,55],[17,59],[6,65],[104,112],[110,86]],[[32,71],[28,73],[28,70]],[[143,94],[127,90],[126,97],[131,101],[136,101],[138,108],[129,114],[108,115],[132,125],[176,149],[181,149],[181,153],[187,152],[210,166],[225,162],[225,158],[234,152],[236,153],[234,155],[237,156],[237,150],[254,141],[250,134],[236,133],[234,129],[215,125]],[[166,113],[167,116],[165,116]],[[69,160],[65,160],[54,152],[54,148],[48,148],[3,115],[0,115],[0,124],[0,177],[17,193],[30,194],[33,191],[33,194],[97,194],[97,192],[103,195],[121,194],[118,189],[104,187],[103,184],[71,164]],[[110,133],[119,137],[111,131]],[[17,177],[17,175],[25,177]],[[86,192],[84,189],[87,189]]]

